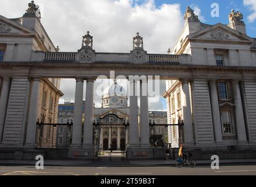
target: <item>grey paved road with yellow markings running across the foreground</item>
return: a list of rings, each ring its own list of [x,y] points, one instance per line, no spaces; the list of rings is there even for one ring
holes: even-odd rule
[[[176,167],[44,167],[0,166],[0,175],[256,175],[256,165]]]

